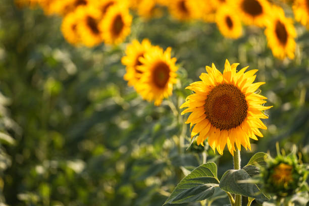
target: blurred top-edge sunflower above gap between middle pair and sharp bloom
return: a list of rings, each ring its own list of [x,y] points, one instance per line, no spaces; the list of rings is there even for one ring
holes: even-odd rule
[[[173,17],[178,20],[190,20],[194,14],[192,10],[194,1],[189,0],[175,0],[169,2],[169,11]]]

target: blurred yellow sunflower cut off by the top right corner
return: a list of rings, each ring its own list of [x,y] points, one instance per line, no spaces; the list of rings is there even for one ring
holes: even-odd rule
[[[306,0],[295,0],[293,3],[295,20],[304,26],[309,24],[309,2]]]

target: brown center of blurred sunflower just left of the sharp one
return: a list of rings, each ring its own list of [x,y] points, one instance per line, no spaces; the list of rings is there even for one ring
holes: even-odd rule
[[[152,70],[152,81],[159,88],[164,88],[170,78],[170,67],[165,62],[158,62]]]

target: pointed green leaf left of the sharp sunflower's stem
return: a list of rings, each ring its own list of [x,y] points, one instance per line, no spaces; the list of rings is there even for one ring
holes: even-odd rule
[[[206,163],[183,178],[165,204],[200,201],[212,196],[217,190],[220,190],[217,165]]]

